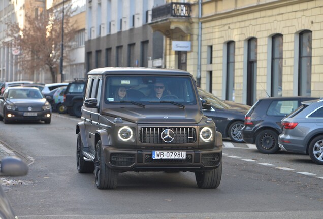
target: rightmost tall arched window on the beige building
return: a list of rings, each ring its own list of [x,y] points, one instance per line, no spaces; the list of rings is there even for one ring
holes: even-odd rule
[[[300,33],[298,95],[311,96],[312,78],[312,32],[305,30]]]

